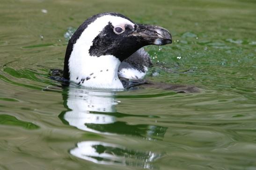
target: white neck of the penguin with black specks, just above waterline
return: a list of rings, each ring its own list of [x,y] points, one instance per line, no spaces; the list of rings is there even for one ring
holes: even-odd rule
[[[123,89],[117,75],[119,65],[112,55],[96,57],[74,49],[69,59],[70,81],[89,88]]]

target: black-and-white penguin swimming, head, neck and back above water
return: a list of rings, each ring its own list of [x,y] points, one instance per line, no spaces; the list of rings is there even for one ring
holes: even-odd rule
[[[137,24],[118,13],[96,14],[68,42],[63,77],[89,88],[123,89],[118,78],[142,78],[150,66],[142,47],[172,43],[165,28]]]

